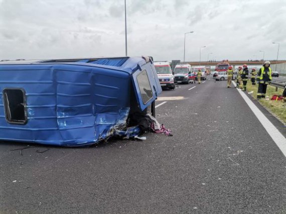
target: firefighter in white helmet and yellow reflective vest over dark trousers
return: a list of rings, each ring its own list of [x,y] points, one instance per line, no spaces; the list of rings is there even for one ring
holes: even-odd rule
[[[270,84],[272,80],[271,73],[272,70],[270,68],[270,62],[264,62],[263,66],[259,69],[257,74],[257,99],[265,98],[267,85]]]

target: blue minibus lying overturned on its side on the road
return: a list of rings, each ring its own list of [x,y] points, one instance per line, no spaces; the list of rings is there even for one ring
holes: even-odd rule
[[[161,92],[152,57],[0,62],[0,140],[98,143]]]

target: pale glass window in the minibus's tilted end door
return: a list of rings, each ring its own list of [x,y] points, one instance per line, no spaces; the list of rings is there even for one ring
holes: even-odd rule
[[[153,92],[146,70],[137,75],[137,82],[140,89],[142,101],[144,104],[146,104],[153,97]]]

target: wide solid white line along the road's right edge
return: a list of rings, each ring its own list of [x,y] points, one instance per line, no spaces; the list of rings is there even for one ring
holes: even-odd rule
[[[234,81],[232,81],[233,84],[235,84]],[[268,132],[270,137],[273,139],[273,141],[276,143],[276,145],[279,147],[281,152],[286,157],[286,138],[278,131],[278,129],[265,117],[265,115],[257,108],[256,105],[247,97],[246,94],[244,94],[240,89],[237,88],[237,91],[240,93],[242,98],[245,100],[249,108],[253,111],[254,115],[257,117],[257,119],[260,121],[262,126],[265,128],[265,130]]]

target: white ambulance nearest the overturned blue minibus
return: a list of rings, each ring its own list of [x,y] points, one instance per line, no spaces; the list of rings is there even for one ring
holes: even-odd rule
[[[169,62],[154,62],[154,65],[161,87],[175,89],[174,75]]]

